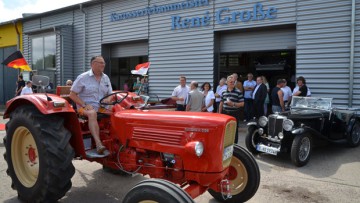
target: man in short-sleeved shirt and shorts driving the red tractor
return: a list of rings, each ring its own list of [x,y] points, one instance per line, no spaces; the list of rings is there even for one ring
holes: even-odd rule
[[[100,99],[112,92],[109,77],[104,73],[105,60],[94,56],[90,60],[91,69],[79,75],[70,89],[70,98],[77,104],[78,113],[89,120],[89,130],[96,143],[96,151],[103,154],[106,150],[100,140],[97,112]],[[79,108],[80,107],[80,108]]]

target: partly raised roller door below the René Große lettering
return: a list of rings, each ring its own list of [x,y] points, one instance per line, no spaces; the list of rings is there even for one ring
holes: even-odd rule
[[[221,53],[296,49],[295,29],[224,33],[220,39]]]

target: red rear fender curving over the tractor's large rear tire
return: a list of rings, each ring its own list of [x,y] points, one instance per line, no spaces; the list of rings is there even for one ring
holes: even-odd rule
[[[74,113],[74,115],[76,115],[75,110],[71,107],[66,99],[52,94],[49,94],[49,97],[52,99],[52,101],[47,101],[45,94],[31,94],[14,97],[13,99],[6,102],[6,110],[3,117],[4,119],[9,118],[11,112],[22,105],[33,105],[42,114],[45,115],[64,112]],[[56,103],[62,102],[65,104],[63,107],[54,106]]]

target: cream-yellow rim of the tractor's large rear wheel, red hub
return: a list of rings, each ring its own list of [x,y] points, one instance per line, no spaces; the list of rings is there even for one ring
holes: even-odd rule
[[[11,160],[21,184],[34,186],[39,175],[39,156],[34,137],[25,127],[18,127],[13,134]]]

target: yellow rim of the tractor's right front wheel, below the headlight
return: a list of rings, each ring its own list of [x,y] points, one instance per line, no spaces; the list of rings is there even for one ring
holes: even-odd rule
[[[229,168],[231,195],[242,192],[248,183],[248,173],[244,164],[235,156],[231,159]]]

